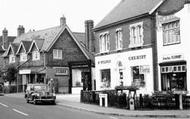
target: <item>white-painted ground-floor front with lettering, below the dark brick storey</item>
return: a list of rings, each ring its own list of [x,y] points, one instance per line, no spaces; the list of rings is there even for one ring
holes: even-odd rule
[[[97,90],[116,86],[138,87],[137,93],[153,92],[152,49],[128,51],[96,57]]]

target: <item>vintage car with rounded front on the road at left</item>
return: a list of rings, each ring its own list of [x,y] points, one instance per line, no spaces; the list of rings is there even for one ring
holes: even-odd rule
[[[56,96],[55,93],[50,93],[46,84],[27,84],[25,99],[27,103],[49,102],[55,104]]]

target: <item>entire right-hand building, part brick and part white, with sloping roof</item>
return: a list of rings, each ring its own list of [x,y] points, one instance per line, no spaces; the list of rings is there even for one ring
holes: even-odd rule
[[[94,29],[97,90],[124,85],[142,94],[176,87],[188,93],[189,3],[121,0]]]

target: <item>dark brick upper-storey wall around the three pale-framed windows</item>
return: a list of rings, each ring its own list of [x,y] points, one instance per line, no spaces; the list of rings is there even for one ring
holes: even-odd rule
[[[104,32],[109,32],[110,34],[110,51],[115,51],[116,50],[116,41],[115,41],[115,35],[116,35],[116,29],[121,28],[122,29],[122,34],[123,34],[123,49],[129,49],[129,44],[130,44],[130,25],[135,24],[138,22],[143,22],[143,40],[144,44],[143,45],[151,45],[151,39],[152,39],[152,28],[153,28],[153,22],[151,17],[145,17],[133,21],[129,21],[127,23],[119,24],[117,26],[113,26],[110,28],[106,28],[100,31],[95,32],[95,37],[96,37],[96,53],[99,53],[99,37],[101,33]]]

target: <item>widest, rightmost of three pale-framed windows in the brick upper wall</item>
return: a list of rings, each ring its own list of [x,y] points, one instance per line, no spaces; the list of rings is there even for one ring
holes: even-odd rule
[[[143,41],[143,22],[132,24],[129,27],[130,29],[130,44],[129,47],[139,47],[142,46]]]

